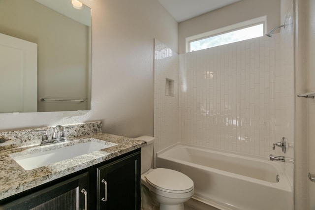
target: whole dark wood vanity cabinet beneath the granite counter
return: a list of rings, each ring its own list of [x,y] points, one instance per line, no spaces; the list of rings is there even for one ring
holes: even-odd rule
[[[140,210],[140,176],[138,149],[1,200],[0,210]]]

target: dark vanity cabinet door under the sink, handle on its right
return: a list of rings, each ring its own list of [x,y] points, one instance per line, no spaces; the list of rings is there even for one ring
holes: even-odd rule
[[[84,190],[83,190],[84,189]],[[81,192],[82,191],[82,192]],[[0,206],[2,210],[85,210],[88,173],[70,178]]]

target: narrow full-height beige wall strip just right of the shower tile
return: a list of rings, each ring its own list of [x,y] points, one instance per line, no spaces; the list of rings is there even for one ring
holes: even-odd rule
[[[295,0],[295,94],[308,91],[307,78],[307,1]],[[296,210],[309,210],[308,205],[308,100],[295,98],[294,201]],[[311,128],[314,130],[314,128]],[[314,198],[312,198],[314,200]]]

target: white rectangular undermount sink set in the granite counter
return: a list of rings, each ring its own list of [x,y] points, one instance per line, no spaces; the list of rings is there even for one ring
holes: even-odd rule
[[[56,145],[40,146],[34,149],[13,153],[10,156],[25,170],[32,170],[117,145],[115,143],[94,138],[89,138],[86,142],[82,142],[82,140],[74,140],[71,144],[75,142],[76,144],[74,145],[67,145],[69,143],[65,142],[63,144],[59,143]],[[62,146],[62,148],[58,148],[58,146]]]

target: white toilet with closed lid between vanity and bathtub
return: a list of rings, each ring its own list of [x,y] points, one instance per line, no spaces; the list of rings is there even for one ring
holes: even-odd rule
[[[141,148],[142,210],[184,210],[184,202],[194,193],[193,181],[175,170],[153,169],[154,137],[140,136],[135,139],[147,142],[147,146]]]

